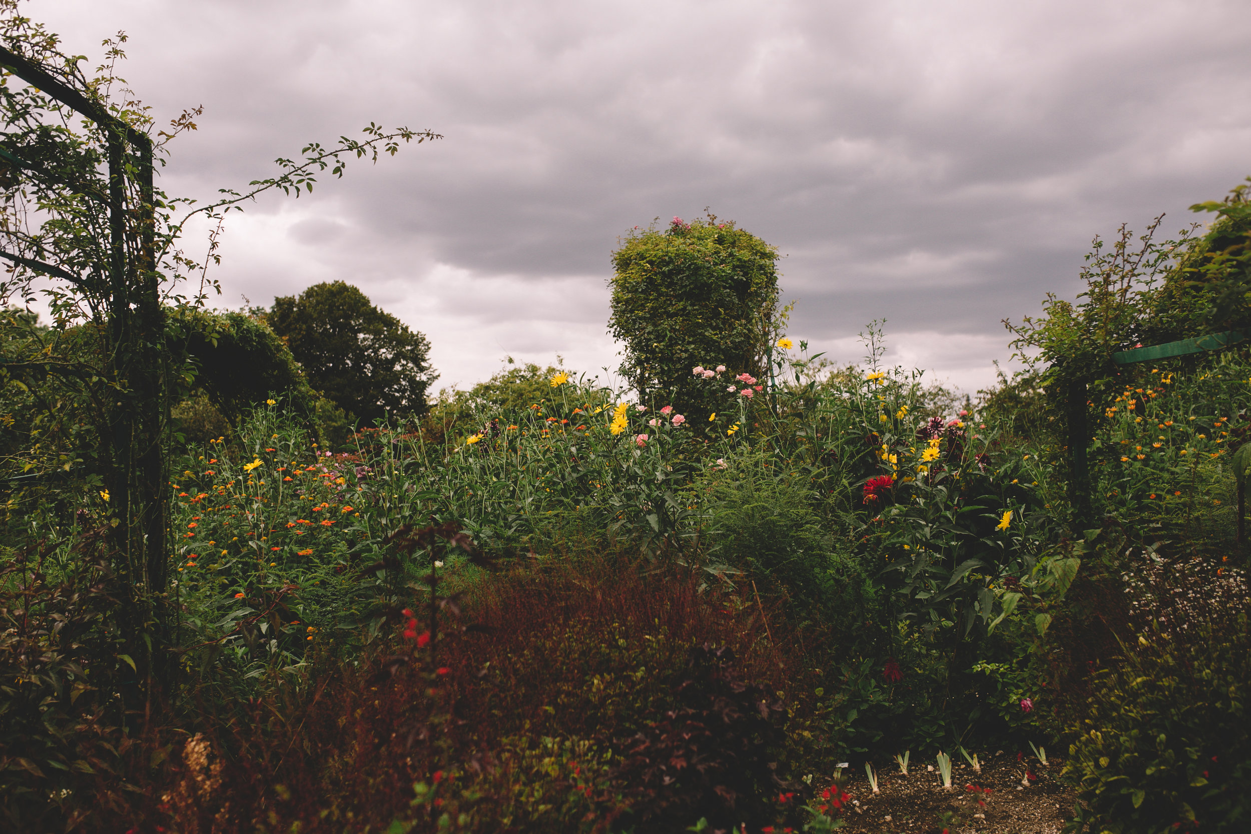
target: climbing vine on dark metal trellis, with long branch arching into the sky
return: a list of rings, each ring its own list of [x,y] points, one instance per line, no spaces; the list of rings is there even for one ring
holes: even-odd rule
[[[51,333],[20,340],[43,350],[6,355],[4,381],[26,393],[44,389],[31,403],[45,425],[26,438],[26,451],[44,459],[35,465],[55,458],[76,481],[73,491],[103,481],[110,569],[125,589],[114,600],[114,621],[139,681],[116,694],[131,708],[141,700],[151,708],[173,676],[166,451],[170,410],[191,371],[169,349],[163,305],[200,306],[216,289],[206,276],[216,261],[216,231],[196,263],[180,243],[185,225],[195,216],[221,221],[265,191],[298,195],[327,168],[342,176],[349,159],[377,161],[379,153],[395,154],[400,140],[437,136],[372,123],[363,141],[306,145],[301,160],[276,160],[281,173],[254,180],[248,193],[223,189],[219,199],[190,208],[194,201],[155,188],[154,168],[169,140],[195,128],[199,110],[184,111],[169,131],[155,130],[149,109],[114,71],[124,41],[106,40],[105,61],[89,76],[84,56],[61,51],[56,35],[18,14],[16,0],[0,0],[0,258],[8,263],[0,298],[20,299],[28,309],[39,299],[49,308]],[[186,286],[194,288],[190,299]],[[6,351],[13,346],[10,340]],[[58,405],[64,410],[51,413]],[[84,424],[90,433],[80,431]],[[44,433],[38,440],[36,430]],[[89,439],[88,449],[71,445]],[[75,476],[79,464],[88,464],[85,478]],[[60,529],[53,528],[61,535],[64,515],[55,519]]]

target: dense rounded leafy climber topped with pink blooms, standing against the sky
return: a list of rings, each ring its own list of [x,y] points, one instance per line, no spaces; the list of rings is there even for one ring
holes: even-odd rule
[[[777,258],[713,215],[631,231],[613,253],[608,329],[626,345],[622,373],[632,385],[657,405],[693,408],[696,365],[759,376],[773,336]]]

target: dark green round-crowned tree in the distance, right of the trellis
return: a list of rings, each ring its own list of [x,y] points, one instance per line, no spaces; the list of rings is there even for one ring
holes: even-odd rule
[[[430,343],[344,281],[274,299],[266,324],[283,338],[309,384],[367,424],[425,413],[438,375]]]

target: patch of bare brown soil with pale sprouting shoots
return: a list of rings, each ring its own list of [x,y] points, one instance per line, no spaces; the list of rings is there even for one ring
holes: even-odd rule
[[[981,774],[967,763],[952,761],[952,789],[942,786],[937,768],[927,770],[924,761],[909,761],[908,775],[878,773],[873,794],[864,773],[851,774],[844,786],[853,803],[842,830],[864,834],[1058,834],[1073,815],[1075,793],[1060,781],[1063,764],[1047,756],[1047,765],[1033,756],[1017,760],[1016,753],[986,756]],[[934,765],[928,765],[934,766]],[[1022,785],[1026,768],[1036,776]],[[990,788],[991,794],[966,790],[967,785]],[[977,804],[978,798],[986,806]],[[943,814],[951,814],[947,824]],[[975,816],[982,814],[982,818]]]

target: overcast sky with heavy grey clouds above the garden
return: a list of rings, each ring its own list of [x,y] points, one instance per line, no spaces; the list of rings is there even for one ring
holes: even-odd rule
[[[1096,234],[1251,174],[1245,0],[30,0],[166,121],[170,194],[211,198],[369,121],[444,139],[268,196],[216,303],[343,279],[433,343],[440,385],[505,355],[595,371],[609,254],[704,208],[783,254],[791,335],[973,390],[1003,318],[1077,293]],[[193,241],[194,243],[194,241]]]

